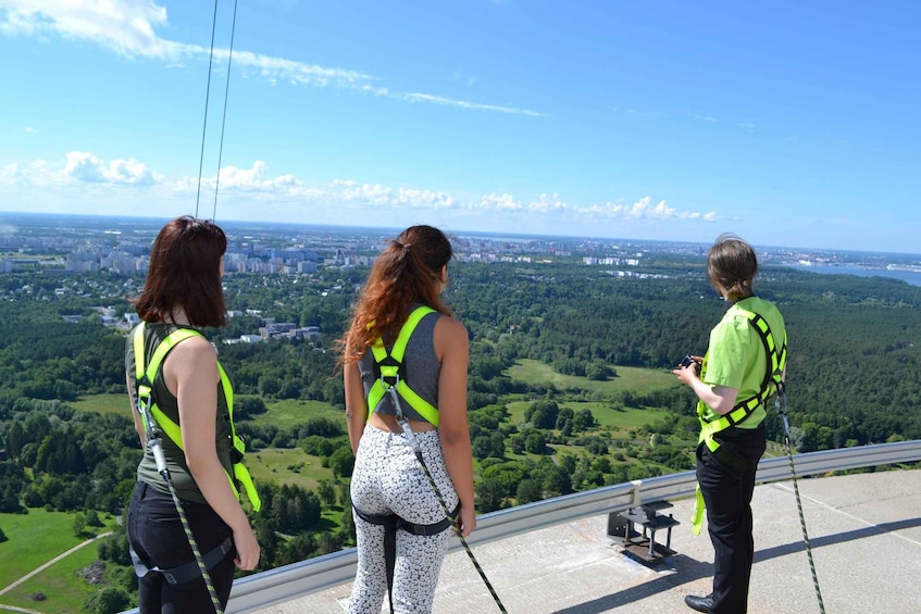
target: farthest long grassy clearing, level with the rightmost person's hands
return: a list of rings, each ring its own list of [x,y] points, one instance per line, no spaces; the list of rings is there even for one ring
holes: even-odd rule
[[[508,375],[512,379],[531,385],[552,384],[560,390],[587,390],[602,394],[611,394],[624,390],[639,392],[658,388],[673,388],[677,385],[675,376],[667,371],[632,366],[619,366],[617,369],[617,377],[607,381],[593,381],[575,375],[562,375],[553,371],[553,367],[548,364],[523,359],[509,367]]]

